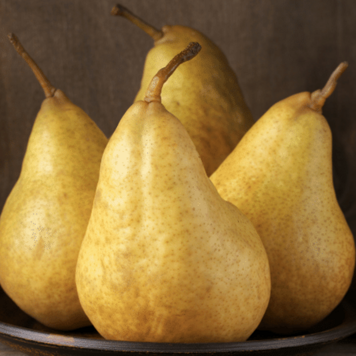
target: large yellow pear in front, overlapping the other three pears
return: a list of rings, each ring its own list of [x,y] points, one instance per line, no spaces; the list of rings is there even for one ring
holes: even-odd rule
[[[102,157],[76,283],[106,339],[246,340],[267,308],[268,259],[255,227],[219,196],[161,103],[163,84],[199,48],[191,43],[153,77]]]

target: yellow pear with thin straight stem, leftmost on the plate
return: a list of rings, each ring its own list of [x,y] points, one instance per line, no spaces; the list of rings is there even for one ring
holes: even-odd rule
[[[24,312],[60,330],[90,325],[75,285],[102,153],[108,139],[11,43],[45,91],[20,176],[0,217],[0,284]]]

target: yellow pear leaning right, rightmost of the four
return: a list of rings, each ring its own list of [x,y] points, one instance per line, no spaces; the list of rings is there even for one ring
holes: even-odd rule
[[[336,199],[322,115],[346,68],[341,63],[322,90],[274,104],[211,176],[267,251],[271,297],[260,329],[307,330],[333,311],[352,280],[355,243]]]

